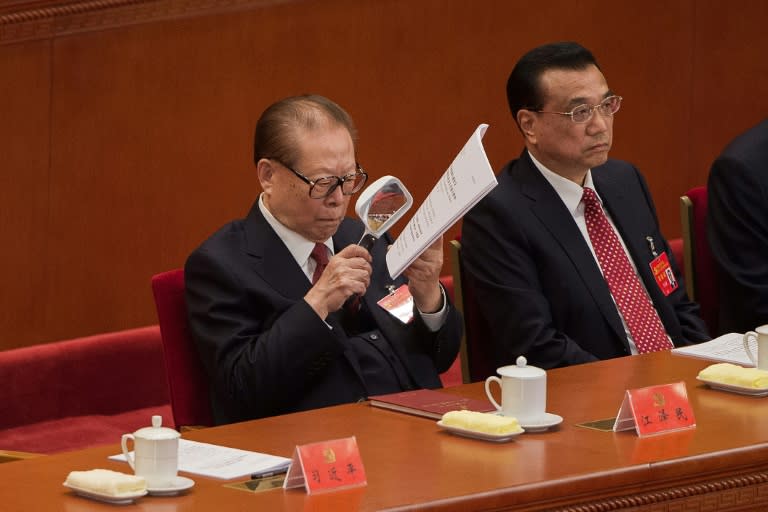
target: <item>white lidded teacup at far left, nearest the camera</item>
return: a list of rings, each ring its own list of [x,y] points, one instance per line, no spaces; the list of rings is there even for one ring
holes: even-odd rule
[[[180,434],[162,423],[162,416],[152,416],[151,427],[123,434],[120,443],[128,464],[136,475],[144,477],[150,489],[173,485],[179,470]],[[129,440],[133,441],[133,456],[128,450]]]

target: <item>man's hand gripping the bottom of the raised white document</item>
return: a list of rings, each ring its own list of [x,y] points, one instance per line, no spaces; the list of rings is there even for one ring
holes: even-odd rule
[[[435,313],[443,307],[440,272],[443,270],[443,237],[435,241],[405,269],[413,302],[422,313]]]

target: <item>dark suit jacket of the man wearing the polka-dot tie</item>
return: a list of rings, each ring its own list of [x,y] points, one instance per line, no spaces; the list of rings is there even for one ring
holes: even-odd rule
[[[675,345],[708,339],[682,280],[665,297],[651,273],[667,253],[648,187],[630,164],[609,160],[592,179],[667,333]],[[630,354],[616,305],[570,212],[527,152],[501,171],[498,186],[464,218],[462,255],[497,366],[525,355],[553,368]]]

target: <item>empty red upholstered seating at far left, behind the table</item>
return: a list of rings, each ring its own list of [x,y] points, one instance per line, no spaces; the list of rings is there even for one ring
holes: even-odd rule
[[[0,462],[119,442],[171,407],[156,325],[0,351]]]

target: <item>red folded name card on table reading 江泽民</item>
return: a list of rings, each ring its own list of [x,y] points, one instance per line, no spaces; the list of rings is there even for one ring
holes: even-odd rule
[[[694,428],[696,418],[688,402],[685,382],[628,389],[613,431],[634,428],[640,437]]]

